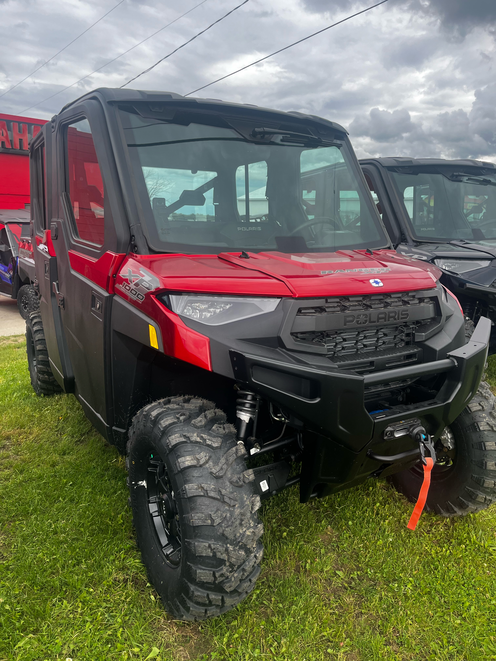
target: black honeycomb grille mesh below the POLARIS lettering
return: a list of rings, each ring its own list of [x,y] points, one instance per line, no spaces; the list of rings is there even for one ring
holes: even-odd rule
[[[360,354],[367,358],[372,352],[390,352],[411,346],[418,325],[419,322],[410,321],[397,326],[370,327],[364,330],[296,332],[292,333],[292,337],[309,346],[325,346],[329,358],[358,358]]]

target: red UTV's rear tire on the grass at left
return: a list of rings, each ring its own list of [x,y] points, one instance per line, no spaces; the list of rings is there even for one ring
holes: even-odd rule
[[[46,348],[45,333],[40,312],[30,312],[26,319],[26,353],[31,385],[36,395],[50,397],[62,393],[56,381]]]

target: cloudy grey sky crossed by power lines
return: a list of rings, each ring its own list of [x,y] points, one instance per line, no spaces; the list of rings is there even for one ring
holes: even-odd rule
[[[8,91],[118,0],[0,0],[0,112],[50,118],[86,91],[120,87],[242,0],[205,0],[132,48],[200,1],[124,0]],[[249,0],[129,87],[186,94],[372,4]],[[327,117],[359,157],[496,161],[496,0],[388,0],[198,96]]]

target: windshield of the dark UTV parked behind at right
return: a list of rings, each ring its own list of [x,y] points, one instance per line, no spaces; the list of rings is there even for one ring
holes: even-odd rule
[[[417,239],[496,239],[495,175],[390,171],[390,176]]]

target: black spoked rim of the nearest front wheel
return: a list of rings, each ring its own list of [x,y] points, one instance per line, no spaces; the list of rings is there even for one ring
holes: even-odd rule
[[[173,567],[181,563],[181,528],[174,490],[161,457],[148,455],[146,492],[148,510],[165,560]]]

